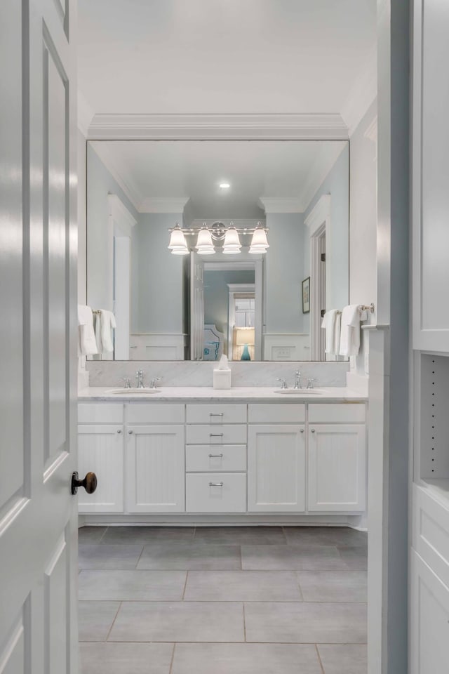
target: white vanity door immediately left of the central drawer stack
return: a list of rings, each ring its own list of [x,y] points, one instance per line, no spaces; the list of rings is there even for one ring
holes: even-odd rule
[[[128,426],[126,509],[185,511],[184,426]]]

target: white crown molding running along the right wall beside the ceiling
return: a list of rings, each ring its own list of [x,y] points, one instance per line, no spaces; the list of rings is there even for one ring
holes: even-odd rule
[[[354,82],[346,103],[342,107],[342,118],[347,124],[349,137],[352,136],[376,97],[377,51],[373,49],[368,59],[368,65]]]

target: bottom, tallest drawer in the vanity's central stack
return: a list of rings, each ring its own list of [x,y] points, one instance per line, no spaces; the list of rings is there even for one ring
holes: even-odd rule
[[[246,513],[245,473],[186,475],[187,513]]]

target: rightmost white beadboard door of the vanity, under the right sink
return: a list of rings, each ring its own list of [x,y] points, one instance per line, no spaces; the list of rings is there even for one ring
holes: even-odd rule
[[[365,507],[365,426],[311,424],[309,511],[361,513]]]

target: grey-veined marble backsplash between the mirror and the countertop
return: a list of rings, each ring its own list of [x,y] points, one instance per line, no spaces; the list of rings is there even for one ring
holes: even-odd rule
[[[154,362],[154,361],[92,361],[86,363],[90,386],[120,386],[123,377],[135,381],[135,372],[142,369],[145,385],[161,377],[161,386],[212,386],[213,362]],[[295,371],[300,370],[302,385],[314,378],[314,386],[346,386],[349,362],[232,362],[232,386],[278,386],[277,377],[285,377],[293,386]]]

